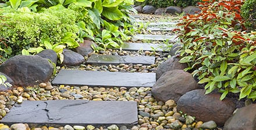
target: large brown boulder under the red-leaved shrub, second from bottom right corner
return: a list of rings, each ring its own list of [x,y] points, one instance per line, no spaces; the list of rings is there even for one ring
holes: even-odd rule
[[[199,121],[213,120],[217,125],[223,126],[226,120],[232,116],[236,104],[232,99],[219,100],[221,94],[212,92],[205,95],[205,90],[193,90],[180,97],[177,102],[177,110],[195,116]]]

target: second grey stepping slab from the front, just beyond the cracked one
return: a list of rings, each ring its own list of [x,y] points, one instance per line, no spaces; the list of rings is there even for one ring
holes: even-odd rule
[[[155,73],[99,72],[62,69],[52,84],[91,87],[152,87]]]

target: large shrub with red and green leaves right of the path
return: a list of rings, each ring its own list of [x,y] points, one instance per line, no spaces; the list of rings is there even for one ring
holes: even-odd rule
[[[229,92],[256,99],[256,32],[247,33],[240,16],[241,0],[203,0],[201,13],[184,16],[178,36],[180,62],[187,63],[206,94]]]

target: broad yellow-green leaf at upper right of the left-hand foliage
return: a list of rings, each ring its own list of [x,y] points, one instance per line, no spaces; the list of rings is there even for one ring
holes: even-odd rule
[[[102,15],[106,18],[108,18],[109,20],[120,20],[123,17],[123,13],[118,9],[118,7],[116,8],[104,8],[104,10],[102,11]]]

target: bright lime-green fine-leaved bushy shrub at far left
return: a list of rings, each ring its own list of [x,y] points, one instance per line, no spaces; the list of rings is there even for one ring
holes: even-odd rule
[[[66,32],[72,32],[74,36],[78,32],[77,13],[71,9],[45,9],[41,13],[8,9],[3,10],[3,16],[3,24],[8,24],[0,28],[1,38],[8,40],[8,46],[1,45],[5,54],[0,55],[4,57],[20,54],[22,49],[38,47],[44,40],[59,43]]]

